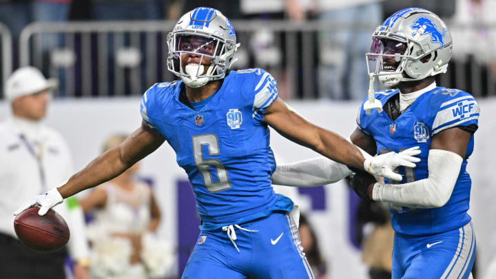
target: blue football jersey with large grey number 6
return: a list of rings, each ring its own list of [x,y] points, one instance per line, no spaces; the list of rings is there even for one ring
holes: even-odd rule
[[[143,94],[141,115],[176,152],[203,224],[214,229],[266,216],[274,207],[291,211],[291,200],[276,195],[270,180],[276,161],[263,116],[278,98],[272,76],[261,69],[231,71],[198,111],[179,101],[183,86],[153,85]]]

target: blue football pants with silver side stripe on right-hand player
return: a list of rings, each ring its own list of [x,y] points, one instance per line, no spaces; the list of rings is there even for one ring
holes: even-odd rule
[[[395,234],[393,279],[466,279],[475,258],[472,223],[423,237]]]

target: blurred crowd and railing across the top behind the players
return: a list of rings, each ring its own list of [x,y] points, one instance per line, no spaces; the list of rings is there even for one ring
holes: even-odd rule
[[[491,0],[1,0],[3,52],[12,52],[2,56],[3,77],[34,65],[60,79],[57,96],[141,94],[172,79],[166,36],[178,17],[212,5],[234,21],[242,45],[236,68],[266,68],[285,99],[362,99],[371,32],[410,6],[450,26],[456,45],[443,83],[495,94]]]

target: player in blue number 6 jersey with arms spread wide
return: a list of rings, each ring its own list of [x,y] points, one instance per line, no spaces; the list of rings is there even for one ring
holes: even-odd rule
[[[227,18],[212,8],[187,12],[167,37],[167,68],[180,81],[143,94],[143,123],[65,185],[37,196],[43,215],[63,198],[121,174],[167,141],[192,184],[200,236],[183,278],[313,278],[298,234],[298,209],[273,192],[276,168],[268,125],[324,156],[371,174],[401,179],[415,167],[409,149],[371,157],[344,138],[312,125],[278,99],[261,69],[229,71],[238,48]],[[366,158],[364,158],[366,156]],[[399,178],[399,179],[398,179]]]

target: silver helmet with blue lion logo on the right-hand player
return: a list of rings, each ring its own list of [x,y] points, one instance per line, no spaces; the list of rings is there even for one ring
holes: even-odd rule
[[[446,24],[422,8],[395,12],[375,29],[372,39],[367,68],[371,79],[378,76],[388,87],[444,73],[451,59],[453,39]]]

